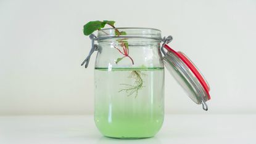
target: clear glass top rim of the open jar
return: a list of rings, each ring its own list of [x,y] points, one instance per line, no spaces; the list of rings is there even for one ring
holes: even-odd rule
[[[116,30],[125,34],[116,34]],[[103,28],[98,31],[97,37],[99,39],[109,38],[148,38],[148,39],[162,39],[161,31],[156,28],[140,28],[140,27],[117,27],[117,28]]]

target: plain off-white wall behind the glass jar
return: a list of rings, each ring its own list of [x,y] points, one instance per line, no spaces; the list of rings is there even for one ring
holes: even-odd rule
[[[256,113],[256,1],[0,0],[0,114],[93,114],[95,55],[83,25],[149,27],[171,34],[207,78],[209,111],[165,73],[166,113]]]

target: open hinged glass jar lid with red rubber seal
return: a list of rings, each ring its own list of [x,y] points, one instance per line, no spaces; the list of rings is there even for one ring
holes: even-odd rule
[[[167,49],[163,57],[167,70],[188,93],[191,100],[197,104],[202,104],[202,108],[207,111],[205,102],[210,100],[210,86],[204,76],[183,52],[176,52],[167,44],[164,44],[163,47]]]

